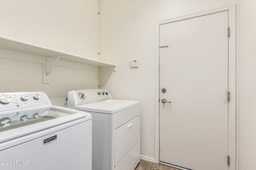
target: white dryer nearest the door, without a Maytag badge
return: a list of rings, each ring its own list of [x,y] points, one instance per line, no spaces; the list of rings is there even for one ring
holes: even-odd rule
[[[67,107],[92,115],[92,170],[134,170],[140,162],[140,102],[106,89],[68,92]]]

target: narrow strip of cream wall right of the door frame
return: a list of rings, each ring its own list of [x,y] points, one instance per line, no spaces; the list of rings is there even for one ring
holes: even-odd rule
[[[256,167],[256,16],[255,0],[238,4],[238,153],[239,170]]]

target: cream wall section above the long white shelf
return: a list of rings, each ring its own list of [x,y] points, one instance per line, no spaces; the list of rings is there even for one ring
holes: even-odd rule
[[[97,0],[0,0],[0,35],[98,59]]]

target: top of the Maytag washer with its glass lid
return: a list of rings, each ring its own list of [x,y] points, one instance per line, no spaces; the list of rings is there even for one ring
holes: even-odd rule
[[[78,119],[92,119],[89,113],[51,106],[0,113],[0,143]]]

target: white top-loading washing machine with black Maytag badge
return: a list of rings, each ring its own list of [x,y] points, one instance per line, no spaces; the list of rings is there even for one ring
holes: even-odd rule
[[[0,93],[0,169],[91,170],[91,115],[43,92]]]

